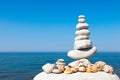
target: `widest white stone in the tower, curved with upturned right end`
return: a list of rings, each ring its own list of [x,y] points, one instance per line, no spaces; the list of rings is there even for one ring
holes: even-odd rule
[[[68,56],[73,59],[83,59],[83,58],[88,58],[95,54],[97,51],[96,47],[93,47],[89,50],[71,50],[68,52]]]

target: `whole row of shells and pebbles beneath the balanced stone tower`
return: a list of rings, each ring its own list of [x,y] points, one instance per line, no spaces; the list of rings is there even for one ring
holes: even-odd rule
[[[47,63],[42,67],[43,71],[47,74],[72,74],[76,72],[95,73],[98,71],[104,71],[106,73],[113,74],[113,67],[106,64],[103,61],[98,61],[92,64],[88,59],[80,59],[69,63],[65,66],[64,59],[58,59],[56,64]]]

